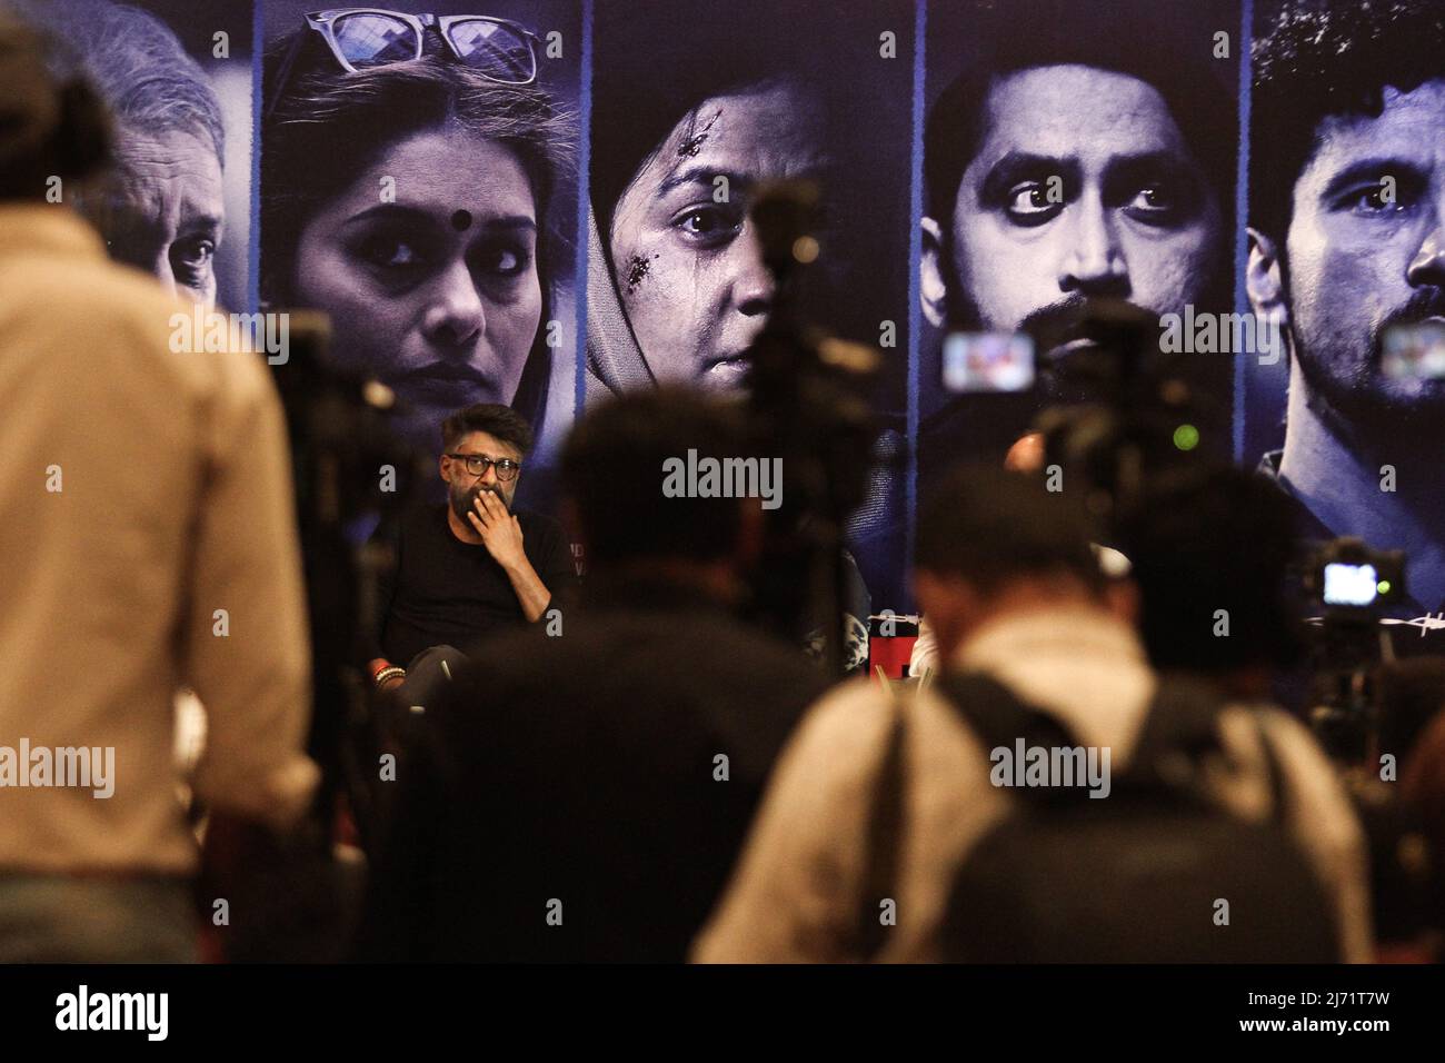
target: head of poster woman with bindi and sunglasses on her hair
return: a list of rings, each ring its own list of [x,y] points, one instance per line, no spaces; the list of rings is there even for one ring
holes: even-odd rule
[[[460,408],[545,409],[574,129],[538,45],[501,19],[367,9],[308,14],[267,55],[263,307],[329,314],[337,366],[389,385],[428,451]]]

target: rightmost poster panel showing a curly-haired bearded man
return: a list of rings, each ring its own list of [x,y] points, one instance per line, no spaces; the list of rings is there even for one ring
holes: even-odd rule
[[[1315,537],[1405,550],[1392,620],[1445,642],[1445,379],[1392,350],[1445,325],[1445,4],[1254,16],[1247,286],[1289,357],[1248,364],[1244,458]]]

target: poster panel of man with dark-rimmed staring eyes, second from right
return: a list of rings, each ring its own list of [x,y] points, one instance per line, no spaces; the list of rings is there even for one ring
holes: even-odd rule
[[[932,3],[923,126],[919,490],[1001,461],[1055,398],[952,393],[951,333],[1051,333],[1085,298],[1150,317],[1233,304],[1240,6]],[[1231,356],[1188,354],[1227,454]]]

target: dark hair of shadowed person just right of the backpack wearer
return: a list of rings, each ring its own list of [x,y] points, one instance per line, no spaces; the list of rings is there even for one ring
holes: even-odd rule
[[[1298,659],[1295,516],[1276,484],[1231,466],[1181,470],[1149,486],[1121,526],[1156,668],[1222,674]],[[1215,633],[1221,609],[1227,638]]]

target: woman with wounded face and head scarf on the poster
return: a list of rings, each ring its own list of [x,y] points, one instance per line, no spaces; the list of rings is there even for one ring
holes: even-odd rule
[[[588,312],[601,314],[588,390],[728,390],[743,382],[741,356],[775,296],[749,220],[759,184],[811,179],[829,208],[840,205],[831,126],[841,100],[819,52],[841,30],[805,48],[772,32],[780,14],[753,3],[617,7],[600,9],[594,29]],[[837,291],[845,255],[832,236],[829,227],[818,286]],[[838,333],[850,324],[812,317]]]

